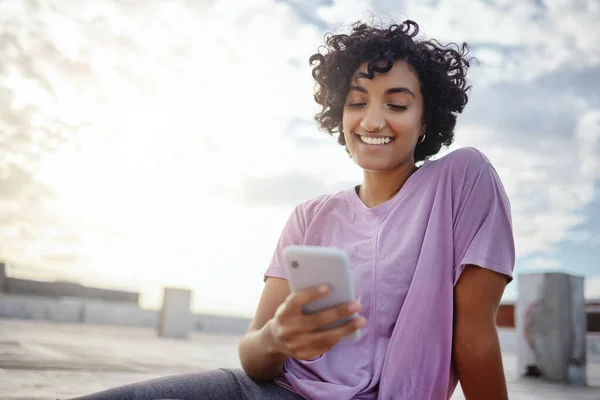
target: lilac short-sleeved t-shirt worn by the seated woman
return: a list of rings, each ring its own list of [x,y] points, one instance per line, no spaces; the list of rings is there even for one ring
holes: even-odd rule
[[[473,148],[425,163],[391,200],[367,208],[355,188],[298,205],[265,277],[287,278],[282,250],[333,246],[350,256],[362,337],[312,361],[288,359],[277,382],[308,399],[451,396],[453,287],[475,264],[512,280],[511,211],[489,160]]]

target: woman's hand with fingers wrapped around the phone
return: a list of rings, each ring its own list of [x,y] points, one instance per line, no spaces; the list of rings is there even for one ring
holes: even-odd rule
[[[357,302],[344,303],[312,314],[302,312],[311,301],[329,294],[326,285],[313,286],[290,294],[268,323],[272,354],[299,360],[313,360],[333,348],[341,339],[365,326],[364,317],[352,318],[339,327],[319,330],[360,311]]]

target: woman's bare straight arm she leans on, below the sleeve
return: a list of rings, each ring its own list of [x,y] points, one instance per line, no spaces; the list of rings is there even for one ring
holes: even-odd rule
[[[454,288],[453,359],[467,400],[507,400],[496,312],[505,275],[468,265]]]

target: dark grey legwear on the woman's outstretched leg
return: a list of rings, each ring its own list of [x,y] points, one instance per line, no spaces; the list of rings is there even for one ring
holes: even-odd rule
[[[302,397],[272,381],[250,378],[241,369],[216,369],[119,386],[71,400],[237,400]]]

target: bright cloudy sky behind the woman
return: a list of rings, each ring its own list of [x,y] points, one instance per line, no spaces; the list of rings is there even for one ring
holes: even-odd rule
[[[600,298],[594,0],[0,2],[0,260],[11,276],[194,291],[250,316],[293,207],[360,182],[317,130],[308,58],[357,21],[467,42],[473,146],[512,204],[518,274]]]

